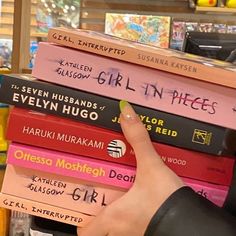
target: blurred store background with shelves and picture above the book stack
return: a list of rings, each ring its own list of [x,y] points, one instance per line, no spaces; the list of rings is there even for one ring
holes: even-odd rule
[[[229,34],[236,34],[235,8],[191,8],[185,0],[1,0],[0,14],[0,66],[7,69],[12,63],[21,70],[32,68],[38,42],[55,26],[95,30],[182,51],[187,50],[184,39],[189,31],[199,32],[194,36],[198,41],[213,32],[221,42],[233,41],[235,35]],[[21,63],[20,55],[25,58]]]

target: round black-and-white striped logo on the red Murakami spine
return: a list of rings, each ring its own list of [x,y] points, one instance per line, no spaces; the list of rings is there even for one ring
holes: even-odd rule
[[[120,158],[125,155],[126,145],[121,140],[112,140],[107,146],[107,152],[113,158]]]

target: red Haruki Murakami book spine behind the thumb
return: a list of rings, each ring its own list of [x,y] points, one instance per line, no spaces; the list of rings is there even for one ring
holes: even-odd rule
[[[136,166],[124,135],[81,122],[14,107],[7,139],[13,142]],[[153,142],[162,160],[179,176],[229,186],[234,158],[217,157]]]

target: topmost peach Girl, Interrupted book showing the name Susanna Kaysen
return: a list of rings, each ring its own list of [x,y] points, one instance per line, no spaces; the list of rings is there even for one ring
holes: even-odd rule
[[[106,57],[236,88],[236,67],[224,61],[128,41],[99,32],[51,28],[48,41]]]

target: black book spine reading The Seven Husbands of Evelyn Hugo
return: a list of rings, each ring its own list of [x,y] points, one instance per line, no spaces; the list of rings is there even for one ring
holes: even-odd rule
[[[26,75],[5,75],[3,78],[0,102],[121,132],[118,100],[42,82]],[[233,130],[142,106],[133,107],[153,141],[216,155],[224,154],[225,150],[227,153],[235,151]],[[222,122],[228,117],[223,119],[221,115]],[[228,146],[230,142],[232,150]],[[233,153],[227,155],[230,154]]]

